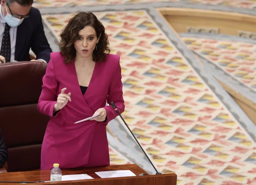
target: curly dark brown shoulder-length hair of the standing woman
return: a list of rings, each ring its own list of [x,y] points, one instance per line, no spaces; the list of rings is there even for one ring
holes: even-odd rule
[[[69,20],[69,23],[62,29],[60,33],[60,54],[64,57],[64,61],[70,64],[75,61],[76,50],[74,42],[78,39],[78,32],[85,26],[91,26],[96,31],[96,36],[99,38],[97,50],[93,50],[92,60],[95,62],[103,62],[106,60],[106,54],[109,53],[108,36],[105,33],[105,28],[97,17],[91,12],[81,12],[76,14]]]

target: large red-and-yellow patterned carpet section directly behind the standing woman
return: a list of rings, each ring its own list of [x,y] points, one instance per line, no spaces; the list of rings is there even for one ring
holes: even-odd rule
[[[74,14],[43,20],[59,39]],[[255,142],[148,13],[95,15],[121,56],[122,115],[160,172],[178,184],[255,184]]]

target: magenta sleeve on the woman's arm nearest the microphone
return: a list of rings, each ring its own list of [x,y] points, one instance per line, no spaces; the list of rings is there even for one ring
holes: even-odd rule
[[[121,75],[121,66],[119,63],[119,58],[118,58],[118,65],[116,65],[116,70],[108,90],[107,103],[109,104],[109,106],[104,107],[107,113],[106,124],[108,124],[109,121],[113,120],[116,116],[118,116],[118,113],[111,106],[111,102],[115,103],[120,114],[124,112],[124,98],[123,98],[123,91],[122,91],[123,85],[121,81],[122,75]]]

